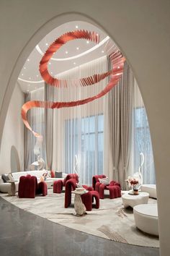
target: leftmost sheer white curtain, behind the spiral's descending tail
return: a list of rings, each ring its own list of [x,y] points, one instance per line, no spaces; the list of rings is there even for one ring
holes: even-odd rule
[[[44,101],[45,90],[44,87],[38,90],[33,90],[26,96],[26,101]],[[31,108],[28,112],[28,121],[33,131],[36,131],[43,137],[42,144],[40,145],[40,156],[46,161],[45,150],[45,109],[44,108]],[[25,170],[29,170],[30,164],[37,161],[37,155],[34,153],[36,137],[25,128],[24,131],[24,163]]]

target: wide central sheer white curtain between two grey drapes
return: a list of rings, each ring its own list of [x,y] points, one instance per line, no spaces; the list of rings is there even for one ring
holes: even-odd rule
[[[68,80],[68,87],[55,88],[54,101],[76,101],[96,95],[107,85],[107,79],[95,85],[80,86],[73,80],[102,74],[108,68],[107,56],[58,75]],[[91,184],[94,174],[104,170],[104,100],[71,108],[54,110],[53,169],[66,173],[76,171],[80,182]]]

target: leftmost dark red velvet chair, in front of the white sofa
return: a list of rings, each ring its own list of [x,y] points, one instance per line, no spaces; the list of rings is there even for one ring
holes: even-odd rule
[[[35,176],[21,176],[19,179],[18,196],[20,198],[35,198],[36,194],[48,195],[48,187],[45,182],[37,183]]]

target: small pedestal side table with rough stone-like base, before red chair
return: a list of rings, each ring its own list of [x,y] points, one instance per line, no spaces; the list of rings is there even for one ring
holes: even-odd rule
[[[86,214],[86,207],[84,205],[84,203],[81,200],[81,195],[83,195],[84,193],[86,193],[88,191],[72,191],[73,194],[75,194],[74,197],[74,210],[76,212],[76,216],[84,216]]]

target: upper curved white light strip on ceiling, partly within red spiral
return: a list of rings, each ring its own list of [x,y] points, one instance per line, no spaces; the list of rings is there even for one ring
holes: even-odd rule
[[[108,40],[109,40],[109,36],[107,36],[106,38],[104,38],[104,39],[103,39],[101,42],[99,42],[96,46],[91,47],[91,48],[89,48],[87,51],[84,51],[83,53],[77,54],[77,55],[72,56],[72,57],[61,58],[61,59],[57,59],[57,58],[50,58],[50,59],[52,59],[53,61],[68,61],[68,60],[71,60],[71,59],[77,59],[77,58],[79,58],[79,57],[81,57],[81,56],[84,56],[84,55],[86,55],[86,54],[89,54],[91,51],[96,50],[97,48],[99,48],[100,46],[102,46],[104,43],[106,43]],[[40,54],[41,56],[44,55],[38,45],[36,46],[36,49],[37,49],[37,51],[39,52],[39,54]]]

